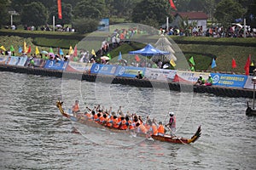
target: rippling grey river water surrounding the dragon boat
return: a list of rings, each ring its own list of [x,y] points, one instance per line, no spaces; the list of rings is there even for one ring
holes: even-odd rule
[[[0,169],[255,169],[256,117],[244,98],[170,92],[0,72]],[[109,133],[62,117],[55,107],[75,99],[166,122],[177,116],[177,136],[194,144],[168,144]],[[150,114],[149,114],[150,113]]]

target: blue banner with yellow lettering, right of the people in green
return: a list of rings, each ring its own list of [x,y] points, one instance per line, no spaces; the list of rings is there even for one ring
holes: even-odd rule
[[[231,75],[221,73],[211,73],[213,78],[213,85],[243,88],[247,82],[247,76]]]

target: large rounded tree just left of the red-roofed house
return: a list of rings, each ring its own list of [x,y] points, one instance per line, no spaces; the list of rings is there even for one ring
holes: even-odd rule
[[[133,8],[131,20],[148,25],[149,23],[145,23],[145,19],[148,17],[151,21],[154,20],[157,26],[160,26],[166,22],[166,17],[169,15],[168,9],[170,9],[169,1],[143,0]]]

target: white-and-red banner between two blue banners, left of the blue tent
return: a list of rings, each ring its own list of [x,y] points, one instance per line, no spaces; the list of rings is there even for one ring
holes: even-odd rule
[[[92,66],[91,63],[78,63],[74,61],[69,61],[66,71],[90,72],[91,66]]]

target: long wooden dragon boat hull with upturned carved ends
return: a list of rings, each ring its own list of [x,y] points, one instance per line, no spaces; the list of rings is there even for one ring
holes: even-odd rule
[[[123,129],[119,129],[119,128],[114,128],[114,127],[108,127],[108,126],[105,126],[104,124],[90,121],[82,116],[79,116],[79,114],[71,115],[63,110],[62,104],[63,104],[63,102],[61,102],[61,101],[56,102],[56,106],[59,108],[61,115],[67,117],[68,119],[70,119],[73,122],[79,122],[81,124],[85,124],[90,127],[104,127],[114,133],[127,133],[127,132],[131,131],[131,130],[123,130]],[[133,129],[133,131],[134,131],[134,129]],[[144,133],[137,133],[137,136],[148,138],[148,134],[144,134]],[[168,143],[175,143],[175,144],[190,144],[190,143],[194,143],[197,139],[199,139],[201,137],[201,126],[199,126],[197,128],[197,131],[190,139],[181,138],[181,137],[177,137],[177,136],[171,136],[171,135],[167,135],[167,134],[165,134],[164,136],[150,135],[150,137],[154,140],[158,140],[161,142],[168,142]]]

